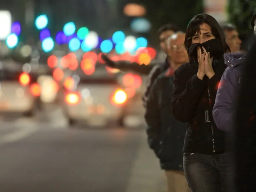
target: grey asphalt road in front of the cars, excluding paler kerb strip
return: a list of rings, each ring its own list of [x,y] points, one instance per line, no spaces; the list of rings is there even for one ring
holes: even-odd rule
[[[125,192],[140,131],[0,129],[1,192]]]

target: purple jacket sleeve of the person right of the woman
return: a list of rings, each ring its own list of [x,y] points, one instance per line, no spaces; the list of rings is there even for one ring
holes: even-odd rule
[[[218,129],[227,132],[233,129],[235,98],[238,94],[238,76],[235,70],[228,67],[223,73],[212,110],[213,119]]]

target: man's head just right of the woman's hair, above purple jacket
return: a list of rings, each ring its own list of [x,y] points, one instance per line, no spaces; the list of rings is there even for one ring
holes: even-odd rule
[[[241,48],[241,39],[238,37],[236,26],[228,23],[222,26],[226,43],[230,47],[231,53],[239,52]]]

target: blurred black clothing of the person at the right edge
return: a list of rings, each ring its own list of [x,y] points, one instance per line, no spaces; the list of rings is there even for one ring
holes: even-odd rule
[[[256,191],[256,39],[246,54],[235,120],[238,192]]]

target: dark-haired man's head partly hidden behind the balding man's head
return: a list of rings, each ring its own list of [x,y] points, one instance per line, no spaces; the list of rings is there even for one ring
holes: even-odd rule
[[[166,40],[167,38],[176,33],[178,31],[178,27],[171,25],[171,24],[166,24],[161,26],[158,29],[158,36],[159,36],[159,40],[160,40],[160,47],[163,50],[163,52],[167,53],[167,49],[166,49]]]

